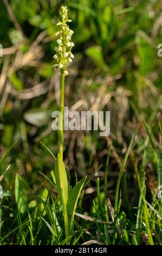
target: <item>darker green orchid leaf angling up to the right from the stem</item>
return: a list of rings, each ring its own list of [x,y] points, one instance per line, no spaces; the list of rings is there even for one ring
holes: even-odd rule
[[[82,190],[82,187],[87,179],[87,176],[82,178],[75,187],[72,188],[69,194],[68,204],[67,204],[67,212],[68,214],[73,218],[77,206],[77,201],[79,199],[80,192]]]

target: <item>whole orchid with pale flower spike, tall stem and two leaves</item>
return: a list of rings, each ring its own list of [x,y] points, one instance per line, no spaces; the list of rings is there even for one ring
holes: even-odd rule
[[[59,196],[59,200],[62,204],[62,212],[64,218],[64,229],[66,238],[73,234],[74,230],[74,214],[79,200],[80,192],[85,184],[86,176],[82,178],[73,188],[69,185],[66,167],[63,163],[63,116],[64,116],[64,80],[68,75],[68,64],[72,62],[74,58],[72,47],[74,43],[71,41],[73,31],[67,25],[67,22],[72,20],[68,19],[68,9],[66,6],[62,6],[60,10],[61,21],[57,23],[57,26],[60,27],[60,30],[56,33],[58,37],[57,47],[55,47],[54,59],[56,63],[54,68],[59,68],[60,71],[60,86],[61,86],[61,118],[59,124],[59,153],[55,161],[55,182],[56,189]]]

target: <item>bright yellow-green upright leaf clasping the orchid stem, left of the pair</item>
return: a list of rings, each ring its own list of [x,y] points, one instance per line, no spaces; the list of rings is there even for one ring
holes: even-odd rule
[[[56,179],[56,188],[57,188],[59,200],[62,203],[62,206],[67,205],[68,179],[67,179],[66,169],[60,157],[60,154],[57,155],[57,158],[55,161],[55,179]]]

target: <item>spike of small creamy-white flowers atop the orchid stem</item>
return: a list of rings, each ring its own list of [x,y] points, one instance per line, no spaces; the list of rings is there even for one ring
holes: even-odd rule
[[[67,76],[67,64],[72,62],[72,59],[74,58],[74,55],[71,52],[74,43],[70,41],[74,32],[67,25],[67,22],[72,20],[68,20],[68,9],[66,6],[61,7],[60,15],[62,21],[57,23],[57,26],[60,26],[60,31],[55,34],[56,36],[59,36],[59,39],[56,40],[58,46],[54,49],[56,54],[53,57],[56,59],[57,63],[53,66],[55,69],[58,66],[60,71],[63,71],[64,76]]]

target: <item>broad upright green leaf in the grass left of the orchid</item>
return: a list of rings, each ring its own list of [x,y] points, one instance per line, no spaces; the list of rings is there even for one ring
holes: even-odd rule
[[[17,173],[15,177],[15,200],[17,209],[24,214],[27,209],[26,196],[25,196],[26,184],[24,179]]]

